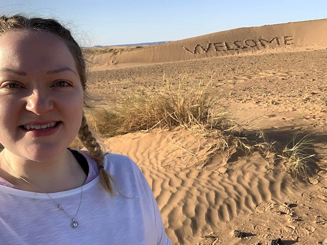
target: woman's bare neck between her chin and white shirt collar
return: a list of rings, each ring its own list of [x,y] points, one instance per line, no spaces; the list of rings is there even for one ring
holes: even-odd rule
[[[77,188],[86,179],[83,169],[68,150],[47,161],[33,161],[7,149],[0,154],[0,176],[16,187],[34,192],[58,192]]]

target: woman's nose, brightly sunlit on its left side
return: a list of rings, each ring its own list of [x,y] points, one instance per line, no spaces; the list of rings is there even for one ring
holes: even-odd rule
[[[45,92],[33,90],[33,92],[27,96],[26,110],[32,111],[37,115],[44,114],[52,110],[53,107],[53,101]]]

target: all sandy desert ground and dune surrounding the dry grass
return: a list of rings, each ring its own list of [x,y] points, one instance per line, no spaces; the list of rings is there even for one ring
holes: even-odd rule
[[[146,176],[173,244],[317,244],[327,238],[327,19],[240,28],[90,59],[88,89],[99,106],[151,93],[164,80],[213,82],[217,110],[249,130],[287,142],[310,134],[316,163],[306,181],[259,154],[213,157],[185,129],[104,139]],[[235,237],[233,231],[245,233]],[[279,244],[279,243],[278,243]]]

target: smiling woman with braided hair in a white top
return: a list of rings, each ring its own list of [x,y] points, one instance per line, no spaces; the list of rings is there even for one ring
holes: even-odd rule
[[[61,24],[0,17],[1,244],[171,244],[139,168],[90,133],[85,83]]]

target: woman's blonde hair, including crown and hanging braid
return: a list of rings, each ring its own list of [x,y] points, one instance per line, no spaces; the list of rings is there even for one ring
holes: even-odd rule
[[[84,106],[87,106],[86,101],[88,96],[85,91],[87,81],[85,59],[82,54],[81,47],[75,41],[71,32],[64,28],[57,20],[54,19],[27,18],[22,15],[13,15],[9,17],[5,15],[0,16],[0,35],[2,33],[9,32],[12,30],[34,30],[49,32],[59,37],[66,44],[75,60],[76,68],[85,95]],[[84,114],[81,121],[81,127],[78,132],[78,137],[81,140],[82,144],[85,146],[85,148],[90,152],[90,156],[94,158],[94,160],[99,165],[100,180],[102,186],[106,191],[110,193],[110,195],[114,195],[112,184],[115,186],[115,183],[113,181],[113,178],[103,168],[104,153],[101,150],[100,144],[92,135],[87,125],[87,121]],[[116,191],[118,191],[117,188]]]

